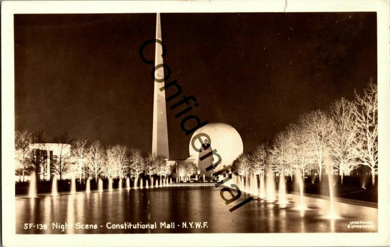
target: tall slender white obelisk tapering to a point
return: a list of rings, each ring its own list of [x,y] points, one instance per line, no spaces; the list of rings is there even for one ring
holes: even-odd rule
[[[160,13],[156,18],[156,39],[161,40]],[[156,42],[155,66],[163,64],[161,57],[162,47]],[[164,68],[160,65],[155,71],[156,79],[164,78]],[[164,155],[169,159],[167,110],[165,106],[165,90],[160,91],[165,82],[155,81],[155,93],[153,99],[153,139],[152,153]]]

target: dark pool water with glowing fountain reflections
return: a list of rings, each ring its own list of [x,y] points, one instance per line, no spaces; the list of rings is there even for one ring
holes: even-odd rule
[[[326,200],[305,197],[308,206],[301,216],[299,196],[287,194],[289,204],[255,197],[230,213],[235,205],[225,205],[219,191],[212,187],[161,187],[154,189],[114,190],[90,194],[60,194],[57,197],[16,198],[16,233],[261,233],[261,232],[369,232],[376,228],[347,228],[350,221],[373,221],[377,225],[377,209],[336,203],[340,218],[326,219]],[[242,193],[238,202],[250,195]],[[237,202],[237,203],[238,203]],[[61,231],[52,223],[72,224]],[[97,224],[97,229],[75,229],[75,223]],[[106,224],[157,223],[156,229],[108,229]],[[175,222],[175,228],[160,228]],[[183,222],[207,222],[207,228],[182,228]],[[23,229],[25,223],[47,224],[47,230]],[[203,225],[202,225],[203,226]]]

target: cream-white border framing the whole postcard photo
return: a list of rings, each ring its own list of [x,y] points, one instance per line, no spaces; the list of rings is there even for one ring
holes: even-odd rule
[[[287,3],[287,6],[286,6]],[[14,14],[164,12],[377,12],[378,233],[16,235],[14,187]],[[2,241],[8,246],[389,246],[390,46],[388,0],[3,1],[1,3]],[[250,220],[250,219],[248,219]]]

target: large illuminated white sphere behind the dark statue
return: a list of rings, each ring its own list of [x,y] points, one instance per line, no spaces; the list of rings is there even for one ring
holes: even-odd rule
[[[205,133],[210,136],[210,139],[201,136],[202,141],[208,139],[209,144],[213,150],[216,150],[221,155],[222,162],[216,168],[216,171],[220,170],[223,165],[231,165],[233,161],[243,152],[244,147],[240,134],[229,124],[225,123],[209,123],[198,130],[191,137],[191,141],[194,136],[199,133]],[[190,141],[190,155],[193,155],[195,162],[198,160],[199,152],[197,152],[191,145]],[[200,147],[199,140],[195,141],[195,147]],[[214,162],[217,161],[217,157],[214,155]],[[213,162],[213,163],[214,163]]]

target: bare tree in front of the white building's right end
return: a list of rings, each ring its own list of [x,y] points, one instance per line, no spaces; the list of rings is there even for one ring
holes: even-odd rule
[[[56,143],[59,148],[59,153],[55,158],[55,171],[59,175],[59,180],[62,180],[63,174],[67,173],[70,169],[70,157],[71,149],[70,145],[73,142],[73,138],[69,137],[68,133],[62,133],[61,135],[53,138],[53,143]]]

